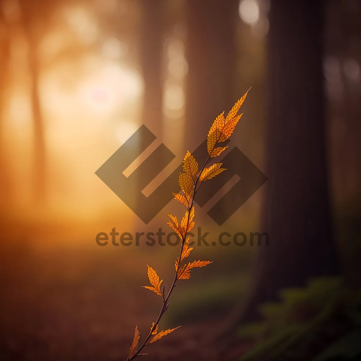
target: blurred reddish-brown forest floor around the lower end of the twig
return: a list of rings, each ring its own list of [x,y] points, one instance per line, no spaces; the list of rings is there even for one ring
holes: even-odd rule
[[[124,275],[124,270],[129,270]],[[71,249],[32,252],[22,243],[2,249],[0,359],[24,361],[126,360],[135,325],[142,342],[160,303],[134,284],[144,269],[126,256],[98,257]],[[144,349],[145,360],[232,360],[209,340],[223,316],[186,322]],[[164,327],[168,328],[169,325]],[[176,327],[178,325],[175,325]],[[160,327],[163,327],[161,324]],[[143,359],[142,358],[142,359]]]

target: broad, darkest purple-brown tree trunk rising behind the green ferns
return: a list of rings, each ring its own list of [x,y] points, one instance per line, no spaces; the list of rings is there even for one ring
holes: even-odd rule
[[[322,2],[271,1],[262,231],[253,289],[239,321],[310,277],[336,273],[326,161]]]

